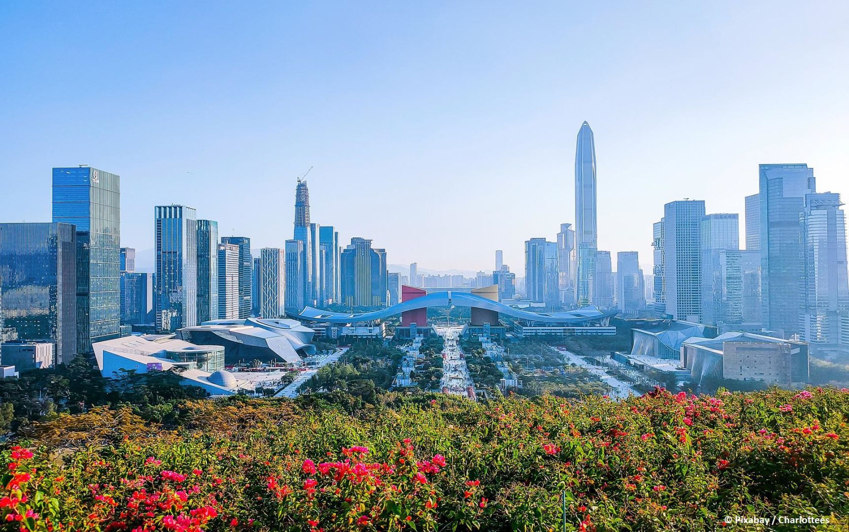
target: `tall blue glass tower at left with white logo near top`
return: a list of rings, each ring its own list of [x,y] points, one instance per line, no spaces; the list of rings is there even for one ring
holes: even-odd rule
[[[121,334],[121,178],[53,168],[53,222],[76,226],[76,350]]]

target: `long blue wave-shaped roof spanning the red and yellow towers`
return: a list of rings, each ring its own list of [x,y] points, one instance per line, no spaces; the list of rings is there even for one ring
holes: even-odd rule
[[[599,320],[610,316],[616,316],[616,311],[602,312],[598,307],[585,306],[574,311],[562,312],[531,312],[523,309],[517,309],[509,305],[504,305],[499,301],[488,300],[477,294],[469,292],[432,292],[423,295],[414,300],[403,301],[397,305],[386,307],[377,311],[369,312],[330,312],[322,311],[321,309],[307,306],[299,314],[291,316],[299,317],[312,322],[329,322],[329,323],[351,323],[351,322],[370,322],[373,320],[382,320],[390,316],[397,316],[405,311],[414,311],[430,306],[471,306],[489,311],[496,311],[499,314],[505,314],[520,320],[528,322],[541,323],[558,323],[563,325],[577,325],[584,322]]]

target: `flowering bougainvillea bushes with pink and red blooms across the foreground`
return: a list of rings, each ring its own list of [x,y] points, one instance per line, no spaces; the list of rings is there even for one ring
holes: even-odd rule
[[[178,428],[98,408],[7,445],[3,529],[713,530],[728,515],[849,527],[849,390],[177,408]]]

